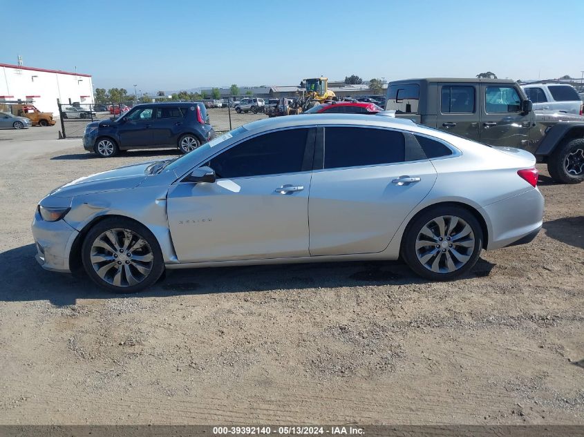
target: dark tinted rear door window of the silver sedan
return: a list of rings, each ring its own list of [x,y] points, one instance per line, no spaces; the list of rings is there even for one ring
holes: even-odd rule
[[[395,130],[326,128],[324,168],[404,162],[405,141]]]

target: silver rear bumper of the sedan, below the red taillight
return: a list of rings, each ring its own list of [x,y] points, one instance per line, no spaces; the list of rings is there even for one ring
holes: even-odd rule
[[[487,250],[531,242],[543,224],[543,208],[537,188],[485,206],[483,216],[491,224]]]

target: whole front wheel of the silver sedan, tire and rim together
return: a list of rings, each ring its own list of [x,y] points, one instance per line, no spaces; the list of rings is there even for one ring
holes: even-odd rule
[[[93,282],[115,293],[136,293],[164,271],[156,237],[146,226],[123,217],[93,226],[82,245],[82,262]]]

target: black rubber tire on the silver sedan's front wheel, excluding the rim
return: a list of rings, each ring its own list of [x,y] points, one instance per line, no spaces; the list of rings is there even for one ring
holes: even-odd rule
[[[130,253],[130,255],[128,256],[124,255],[124,253],[117,253],[116,251],[117,261],[113,260],[111,262],[113,265],[109,267],[107,263],[109,263],[110,261],[96,262],[95,264],[93,263],[93,260],[96,259],[95,258],[96,254],[95,253],[92,254],[92,251],[95,251],[95,247],[93,247],[93,244],[102,235],[104,235],[104,233],[106,233],[107,231],[112,231],[114,229],[118,230],[115,232],[115,235],[117,236],[123,235],[123,233],[120,232],[122,230],[127,230],[131,231],[131,233],[134,233],[135,234],[134,239],[131,240],[134,242],[133,244],[136,245],[138,244],[139,240],[136,240],[138,237],[142,238],[142,240],[144,240],[147,243],[143,244],[140,248],[136,249],[135,253],[138,253],[138,255],[134,256],[135,257],[141,256],[141,258],[145,258],[145,256],[151,255],[151,261],[149,261],[148,263],[142,261],[139,262],[141,264],[141,269],[144,270],[147,270],[144,267],[144,265],[148,264],[149,273],[142,274],[140,273],[140,271],[136,269],[135,262],[131,264],[129,260],[132,259],[131,258],[131,255],[133,255],[132,253]],[[121,246],[122,244],[119,245]],[[130,243],[129,246],[131,247],[132,243]],[[104,254],[107,254],[109,252],[113,253],[113,251],[104,251]],[[145,255],[142,255],[142,253],[144,253]],[[93,226],[93,228],[91,228],[85,235],[81,248],[81,256],[84,269],[89,278],[91,278],[91,280],[95,282],[95,284],[99,285],[104,289],[113,291],[114,293],[137,293],[138,291],[141,291],[154,284],[158,280],[158,278],[160,278],[160,275],[162,275],[162,272],[164,271],[162,251],[160,251],[160,245],[158,244],[156,237],[154,237],[153,233],[151,233],[151,231],[146,226],[133,220],[126,219],[124,217],[106,218],[101,222],[95,224],[95,226]],[[100,254],[97,254],[97,256],[100,256]],[[128,266],[126,267],[125,264],[128,264]],[[118,265],[120,265],[121,267],[118,267]],[[96,271],[96,269],[101,270],[102,267],[106,269],[106,271],[102,273],[106,275],[105,279],[102,278]],[[113,284],[113,282],[115,282],[114,278],[116,276],[115,274],[116,270],[120,271],[120,285]],[[130,276],[132,276],[132,280],[137,279],[133,278],[133,275],[140,276],[140,282],[138,282],[137,284],[130,285],[131,280],[129,279],[129,275],[128,273],[126,273],[126,271],[130,271],[131,273]],[[110,282],[110,280],[113,282]]]

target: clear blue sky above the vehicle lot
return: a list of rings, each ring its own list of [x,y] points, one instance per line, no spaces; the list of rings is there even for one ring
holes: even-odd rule
[[[0,63],[149,93],[584,70],[583,0],[0,0],[0,15]]]

